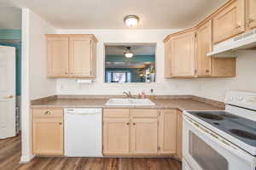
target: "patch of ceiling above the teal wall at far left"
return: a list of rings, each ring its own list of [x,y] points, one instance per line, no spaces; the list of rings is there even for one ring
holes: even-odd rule
[[[21,9],[0,6],[0,29],[21,29]]]

